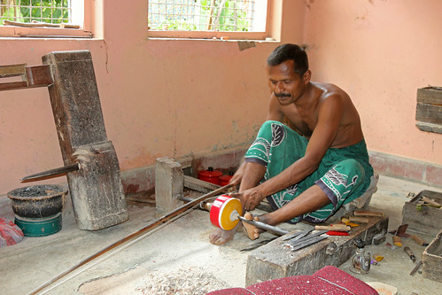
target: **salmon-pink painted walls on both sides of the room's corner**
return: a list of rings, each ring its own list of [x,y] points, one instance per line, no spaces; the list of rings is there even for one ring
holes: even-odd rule
[[[276,2],[283,21],[275,32],[284,43],[309,45],[314,79],[350,93],[370,149],[442,164],[442,136],[419,131],[414,119],[416,89],[442,84],[435,32],[442,3]],[[122,170],[252,141],[267,112],[265,60],[279,43],[241,51],[236,42],[151,40],[145,0],[94,3],[104,39],[0,38],[0,65],[90,50]],[[0,162],[0,194],[26,185],[20,177],[62,165],[47,89],[0,92]]]

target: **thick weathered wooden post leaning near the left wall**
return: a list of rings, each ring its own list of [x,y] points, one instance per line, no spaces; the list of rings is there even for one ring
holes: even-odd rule
[[[53,84],[48,89],[65,166],[80,164],[67,174],[79,229],[97,230],[128,220],[120,165],[105,121],[89,50],[51,52]]]

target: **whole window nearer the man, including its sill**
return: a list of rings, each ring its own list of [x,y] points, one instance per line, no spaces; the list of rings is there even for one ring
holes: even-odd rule
[[[148,2],[150,35],[176,36],[180,35],[178,32],[192,32],[187,35],[216,37],[231,33],[234,36],[255,33],[251,35],[252,38],[256,35],[265,37],[263,33],[266,32],[267,0],[149,0]]]

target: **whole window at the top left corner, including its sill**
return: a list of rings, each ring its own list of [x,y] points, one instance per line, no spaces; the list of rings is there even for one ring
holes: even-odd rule
[[[84,36],[90,0],[0,0],[0,36]]]

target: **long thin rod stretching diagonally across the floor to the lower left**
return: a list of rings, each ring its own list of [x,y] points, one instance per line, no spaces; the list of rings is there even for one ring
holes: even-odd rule
[[[71,268],[66,269],[65,271],[60,273],[58,276],[55,276],[52,279],[50,279],[49,282],[43,283],[42,285],[38,286],[37,288],[35,288],[33,291],[29,292],[28,294],[44,294],[46,292],[46,291],[43,291],[44,289],[47,289],[51,284],[57,282],[59,279],[68,275],[69,273],[72,273],[75,269],[81,268],[82,266],[88,264],[90,261],[96,260],[98,257],[102,256],[106,252],[110,252],[112,249],[117,248],[118,246],[124,245],[124,244],[128,243],[129,241],[134,240],[137,237],[143,235],[144,233],[147,233],[147,232],[151,231],[152,229],[159,227],[159,225],[162,225],[162,224],[166,223],[167,221],[172,220],[175,216],[178,216],[181,213],[185,213],[187,210],[189,210],[192,207],[198,206],[199,203],[204,201],[205,199],[211,198],[211,197],[213,197],[213,196],[215,196],[225,190],[228,190],[232,186],[233,186],[233,184],[229,183],[228,185],[225,185],[217,190],[213,190],[213,191],[211,191],[211,192],[209,192],[199,198],[192,200],[191,202],[189,202],[187,204],[184,204],[181,207],[178,207],[177,209],[175,209],[171,213],[167,213],[166,215],[160,217],[159,219],[157,219],[155,221],[151,221],[151,223],[149,223],[148,225],[143,227],[143,229],[139,229],[135,233],[130,234],[127,237],[123,237],[118,242],[115,242],[112,245],[105,247],[105,249],[89,256],[87,259],[81,260],[81,262],[75,264]],[[43,291],[43,292],[41,292],[41,291]]]

